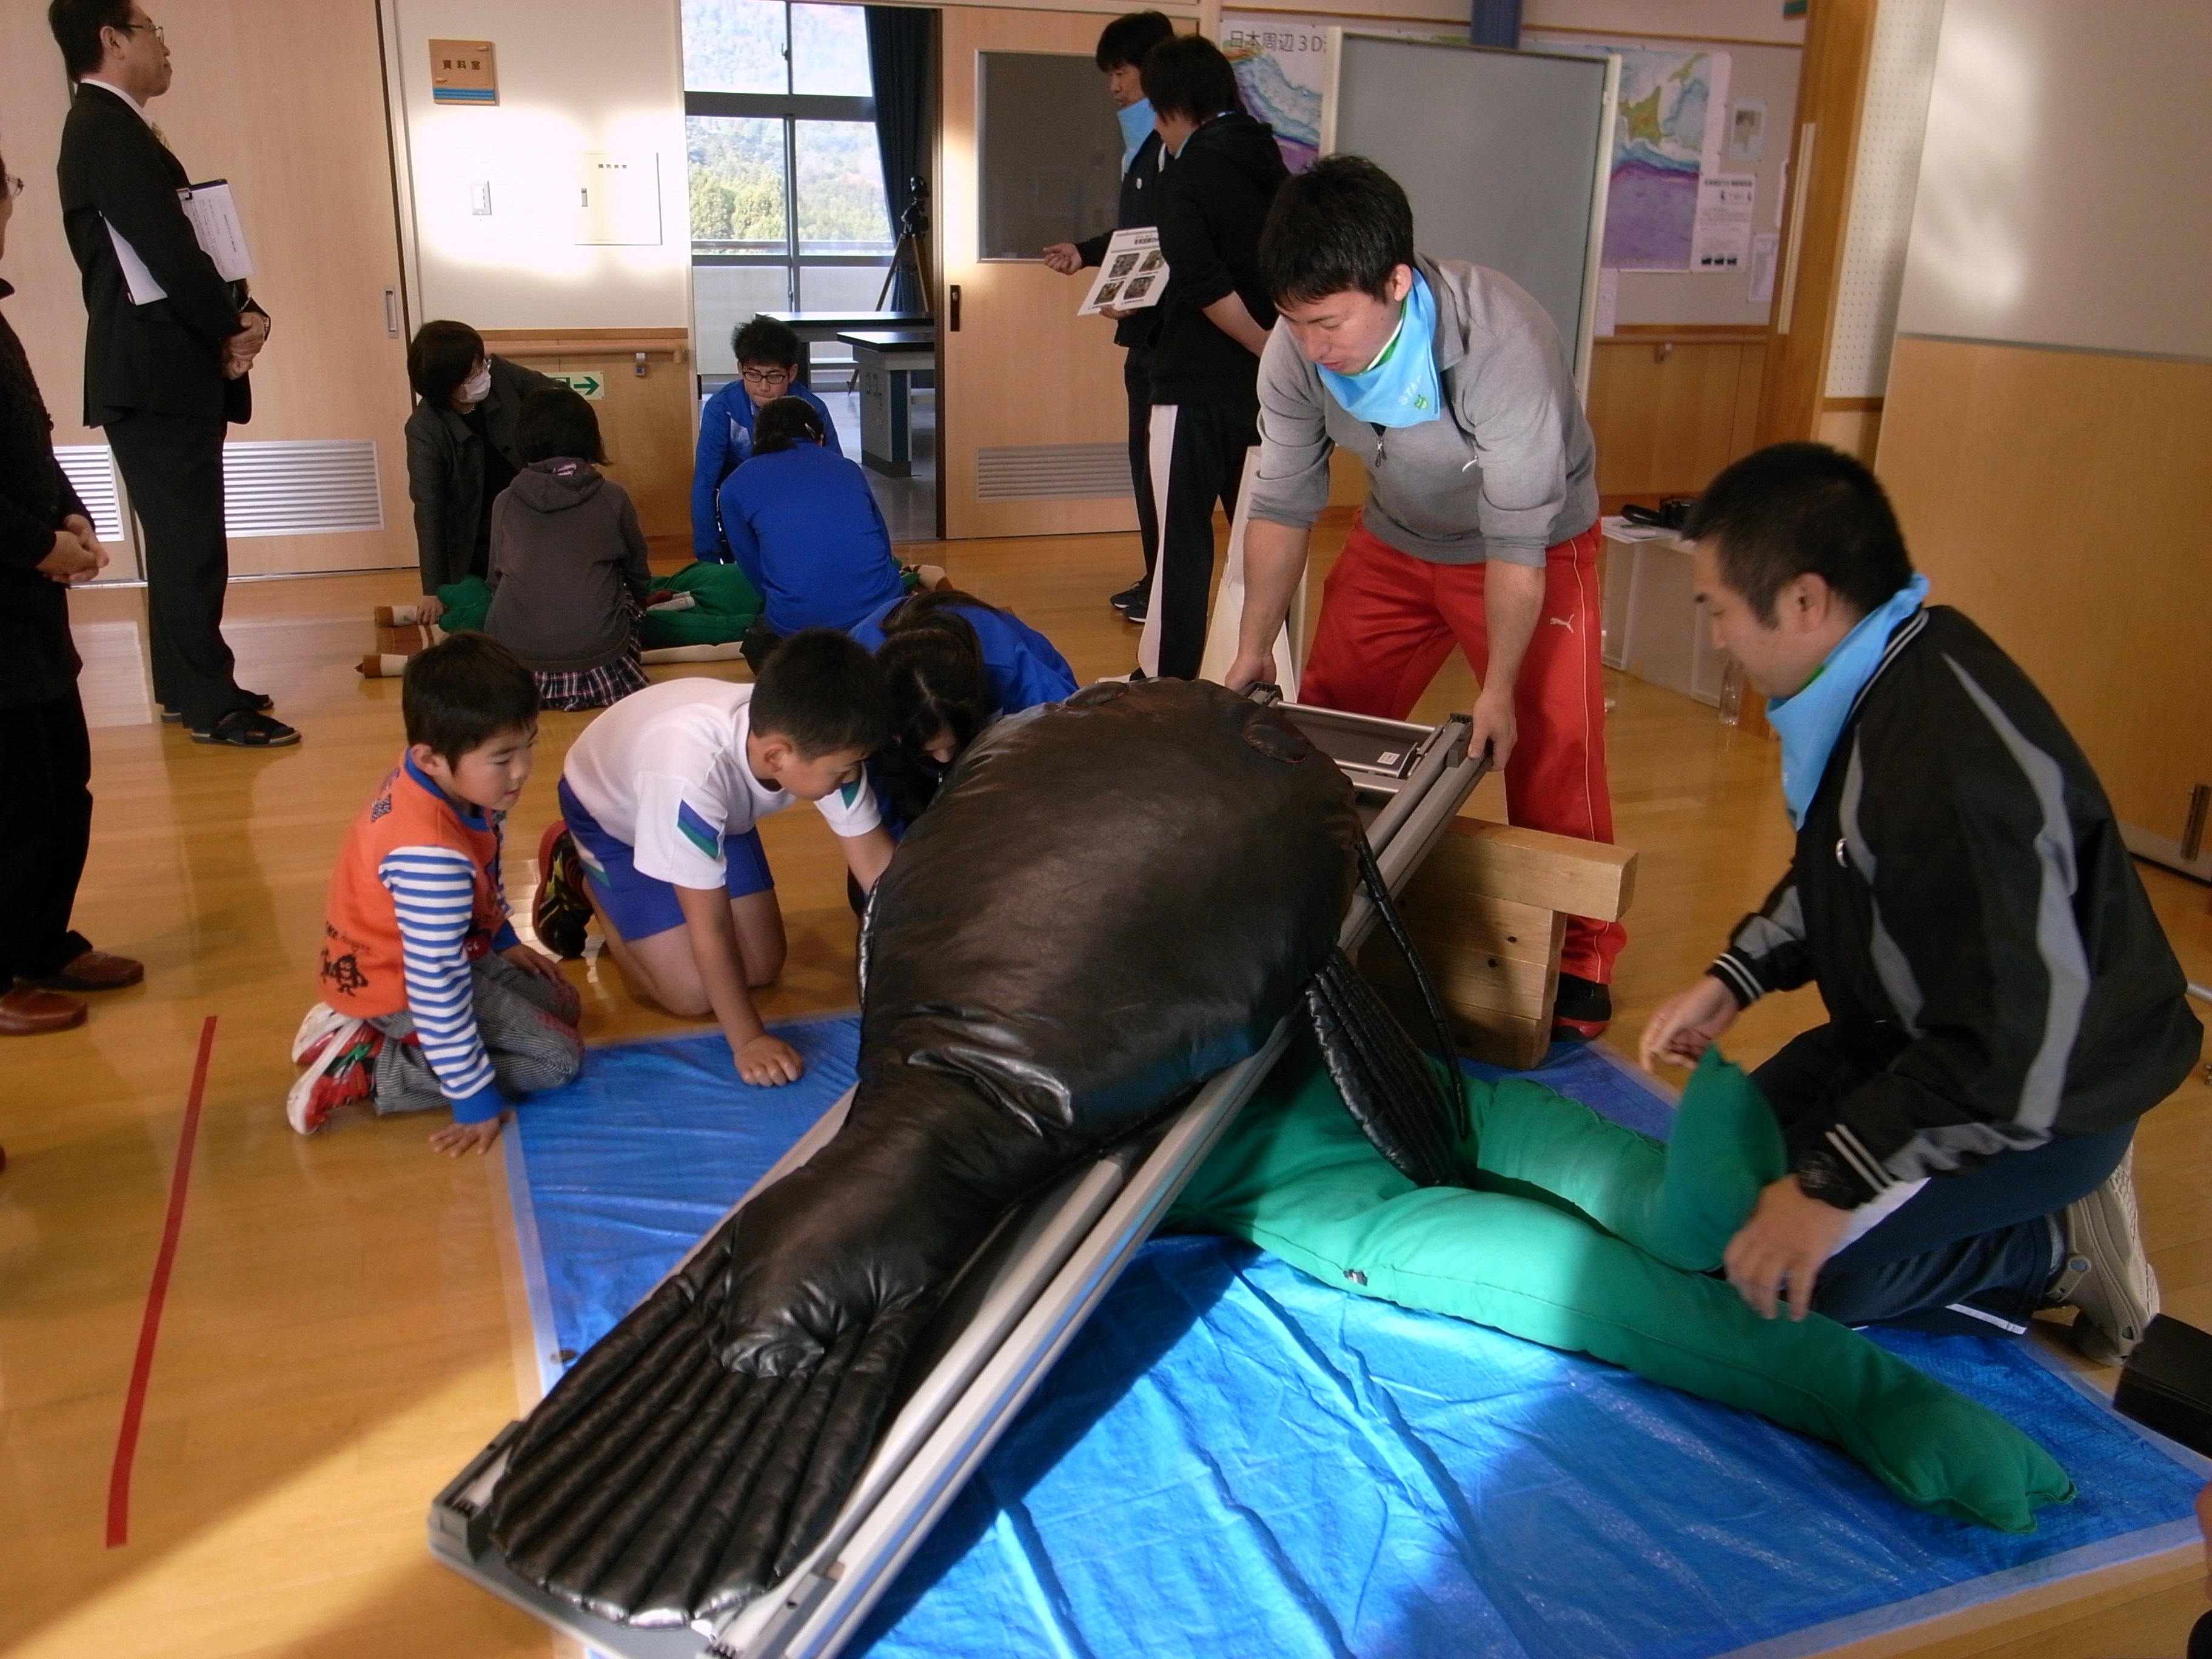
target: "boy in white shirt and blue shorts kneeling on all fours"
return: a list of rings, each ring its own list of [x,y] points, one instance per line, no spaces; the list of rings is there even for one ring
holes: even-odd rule
[[[889,723],[883,670],[834,628],[783,639],[752,686],[670,679],[624,697],[562,768],[562,816],[538,847],[538,938],[575,958],[595,920],[633,991],[721,1022],[739,1077],[799,1082],[799,1051],[752,1006],[750,987],[783,971],[754,825],[812,801],[872,889],[891,836],[860,763]]]

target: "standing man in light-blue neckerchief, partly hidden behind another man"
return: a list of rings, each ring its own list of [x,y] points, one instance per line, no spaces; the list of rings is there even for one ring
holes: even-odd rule
[[[1152,226],[1152,199],[1159,184],[1159,133],[1152,128],[1152,102],[1144,95],[1144,55],[1161,40],[1175,38],[1175,24],[1161,11],[1130,11],[1099,31],[1097,66],[1106,75],[1115,119],[1121,124],[1121,204],[1115,230]],[[1044,250],[1044,263],[1062,276],[1084,265],[1106,261],[1113,234],[1086,241],[1055,241]],[[1108,307],[1110,310],[1110,307]],[[1152,511],[1152,330],[1157,307],[1113,312],[1113,343],[1128,356],[1121,361],[1121,389],[1128,392],[1128,478],[1137,491],[1137,540],[1144,542],[1144,575],[1121,588],[1108,604],[1128,622],[1144,622],[1152,595],[1152,566],[1159,562],[1159,515]]]

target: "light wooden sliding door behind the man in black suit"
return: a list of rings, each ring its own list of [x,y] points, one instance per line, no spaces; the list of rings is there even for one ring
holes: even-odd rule
[[[398,219],[374,0],[323,0],[312,27],[281,0],[175,0],[159,9],[175,86],[155,100],[195,179],[230,179],[254,254],[254,296],[274,319],[254,367],[252,425],[237,440],[374,438],[385,529],[230,544],[237,575],[414,564],[407,507],[407,341],[385,332],[398,288]],[[276,66],[312,35],[312,71]],[[290,42],[290,44],[279,44]],[[272,58],[276,51],[276,58]],[[40,4],[0,7],[0,153],[27,181],[0,272],[31,352],[55,442],[102,442],[84,400],[84,301],[62,241],[53,164],[69,88]]]

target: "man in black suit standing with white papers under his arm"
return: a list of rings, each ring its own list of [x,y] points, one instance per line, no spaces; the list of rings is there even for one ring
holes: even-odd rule
[[[177,192],[188,186],[146,104],[168,91],[161,29],[135,0],[53,0],[46,9],[77,84],[62,126],[62,228],[84,274],[84,425],[104,427],[146,529],[146,617],[164,719],[197,743],[296,743],[239,690],[223,644],[223,427],[252,416],[246,372],[270,321],[199,248]],[[126,276],[124,250],[144,265]],[[148,276],[159,299],[139,294]]]

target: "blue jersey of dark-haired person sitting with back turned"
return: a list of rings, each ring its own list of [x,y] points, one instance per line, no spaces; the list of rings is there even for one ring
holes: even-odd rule
[[[719,491],[730,553],[774,635],[852,633],[900,595],[891,531],[860,469],[821,445],[754,456]]]

